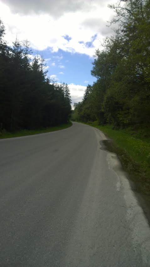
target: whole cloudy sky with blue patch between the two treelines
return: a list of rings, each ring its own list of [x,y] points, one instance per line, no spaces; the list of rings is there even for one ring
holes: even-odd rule
[[[34,54],[46,58],[48,75],[69,84],[72,102],[81,101],[91,76],[95,49],[112,34],[107,21],[114,0],[0,0],[5,39],[28,39]]]

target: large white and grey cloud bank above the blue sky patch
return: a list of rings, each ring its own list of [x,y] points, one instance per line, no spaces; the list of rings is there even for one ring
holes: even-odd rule
[[[6,27],[6,40],[10,45],[17,34],[20,41],[28,38],[32,48],[36,50],[49,47],[51,52],[61,49],[93,56],[95,49],[100,46],[100,41],[111,32],[105,25],[114,13],[107,8],[107,4],[115,0],[0,1],[1,19]],[[48,32],[50,34],[47,34]],[[97,37],[93,44],[87,46],[87,42],[90,42],[95,34]],[[72,39],[67,41],[64,38],[66,35]],[[61,59],[62,56],[57,58],[58,61]]]

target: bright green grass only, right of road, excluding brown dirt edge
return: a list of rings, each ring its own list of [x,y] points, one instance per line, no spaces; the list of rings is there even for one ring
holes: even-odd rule
[[[144,130],[114,130],[112,125],[101,126],[97,122],[88,125],[98,128],[110,137],[115,147],[126,154],[128,161],[131,161],[132,165],[137,164],[143,175],[150,178],[150,138],[145,137]]]

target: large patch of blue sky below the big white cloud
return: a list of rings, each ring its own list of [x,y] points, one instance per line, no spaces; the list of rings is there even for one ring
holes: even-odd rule
[[[46,58],[48,75],[56,75],[58,82],[67,84],[87,85],[93,84],[95,78],[91,75],[93,57],[85,54],[64,52],[59,49],[58,52],[51,52],[46,49],[40,51],[40,54]]]

